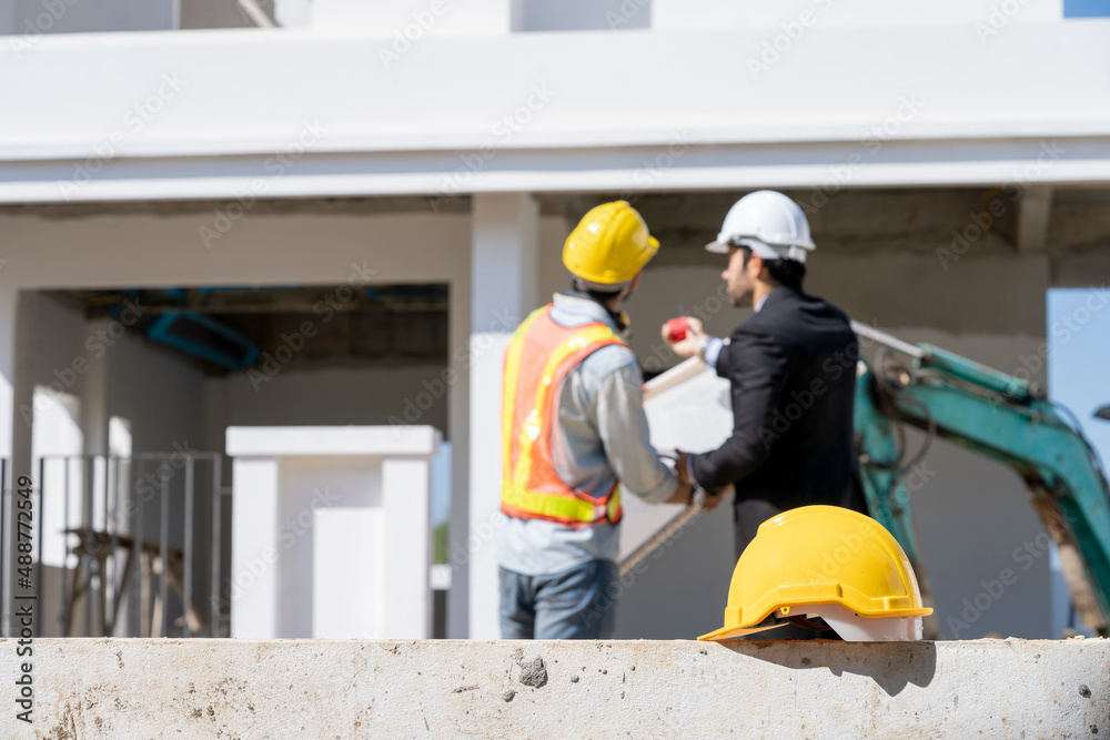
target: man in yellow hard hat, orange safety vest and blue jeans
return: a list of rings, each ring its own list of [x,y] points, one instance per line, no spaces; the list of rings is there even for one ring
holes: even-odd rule
[[[652,447],[624,339],[620,310],[658,249],[628,203],[591,210],[563,250],[572,290],[533,312],[505,353],[503,638],[612,637],[622,493],[692,499]]]

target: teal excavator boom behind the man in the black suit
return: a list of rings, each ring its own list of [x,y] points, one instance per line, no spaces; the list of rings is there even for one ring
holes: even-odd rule
[[[1110,489],[1098,455],[1035,384],[928,344],[908,344],[852,322],[874,363],[860,357],[855,428],[871,516],[895,535],[922,590],[928,577],[907,481],[924,450],[907,449],[904,425],[1013,468],[1056,541],[1083,624],[1110,625]]]

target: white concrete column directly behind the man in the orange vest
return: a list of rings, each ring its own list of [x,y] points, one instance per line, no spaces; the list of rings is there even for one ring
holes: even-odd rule
[[[497,627],[502,362],[513,330],[538,305],[539,210],[526,193],[474,196],[471,280],[470,637]]]

